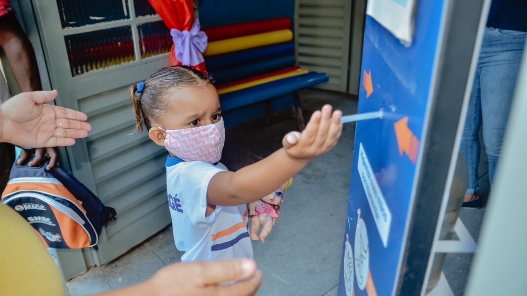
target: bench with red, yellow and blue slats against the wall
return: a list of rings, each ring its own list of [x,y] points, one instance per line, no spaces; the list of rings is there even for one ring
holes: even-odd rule
[[[203,53],[220,94],[223,111],[292,93],[300,130],[304,117],[298,90],[329,80],[326,73],[296,66],[287,17],[203,28],[209,44]],[[268,105],[270,106],[270,105]]]

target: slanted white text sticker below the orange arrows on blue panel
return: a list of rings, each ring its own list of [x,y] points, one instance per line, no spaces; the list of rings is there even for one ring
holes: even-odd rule
[[[369,164],[362,143],[360,143],[359,146],[357,170],[359,171],[360,181],[362,181],[364,192],[366,192],[366,199],[372,210],[373,219],[377,225],[380,239],[383,241],[384,247],[386,248],[388,246],[390,225],[392,224],[392,213],[388,209],[388,205],[386,205],[383,192],[380,190],[379,184],[375,179],[372,166]],[[355,250],[355,252],[357,251]]]

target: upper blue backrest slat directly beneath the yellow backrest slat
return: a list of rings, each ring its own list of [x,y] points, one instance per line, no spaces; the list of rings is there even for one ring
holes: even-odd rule
[[[246,51],[211,56],[205,60],[205,65],[209,72],[214,72],[225,68],[267,60],[271,57],[294,53],[295,45],[292,42],[286,42],[257,47]]]

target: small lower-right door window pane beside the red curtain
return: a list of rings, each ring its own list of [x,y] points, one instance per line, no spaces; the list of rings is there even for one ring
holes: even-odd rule
[[[172,36],[162,21],[141,24],[137,28],[142,58],[170,52]]]

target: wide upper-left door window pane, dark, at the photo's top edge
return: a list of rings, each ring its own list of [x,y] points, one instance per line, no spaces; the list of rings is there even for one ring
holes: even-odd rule
[[[130,18],[128,0],[57,0],[62,28]]]

